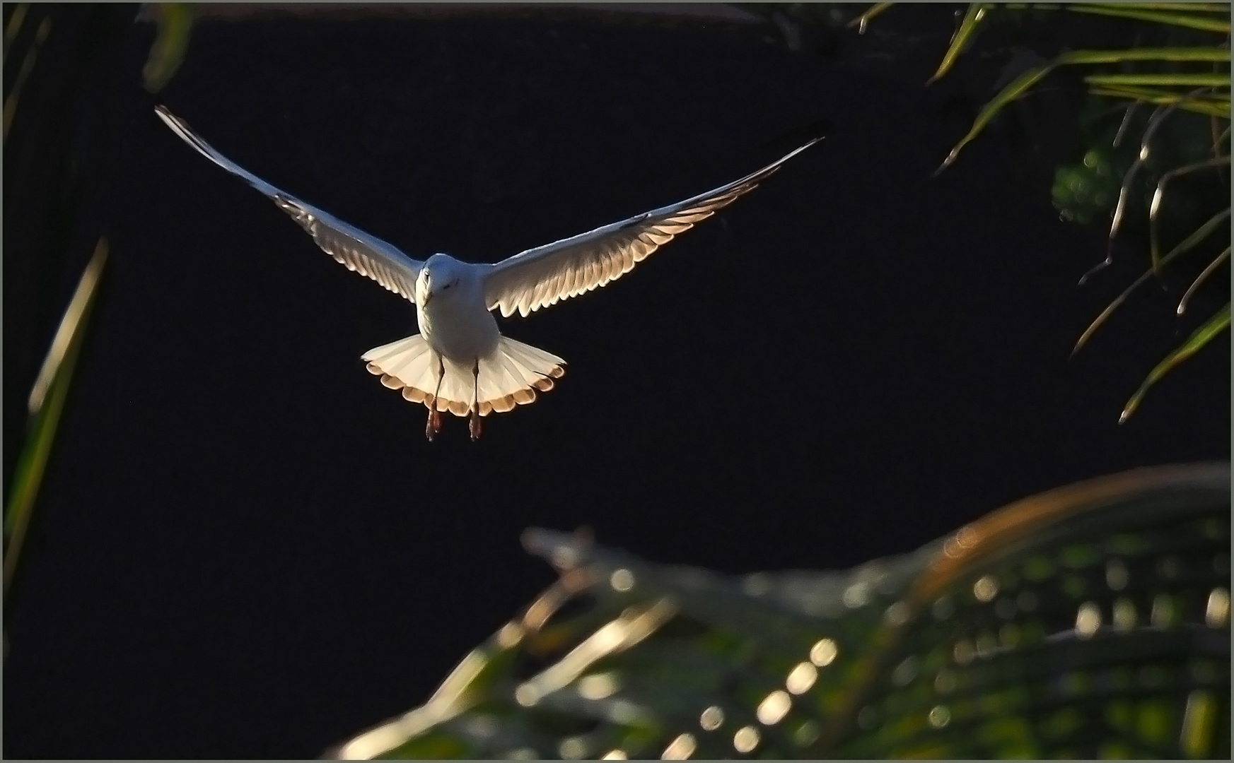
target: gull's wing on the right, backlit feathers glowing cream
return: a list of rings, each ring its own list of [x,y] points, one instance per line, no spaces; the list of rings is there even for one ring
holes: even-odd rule
[[[814,138],[756,173],[611,226],[528,249],[489,267],[484,295],[502,316],[532,311],[586,293],[619,279],[679,233],[685,233],[774,174],[780,165],[822,138]]]

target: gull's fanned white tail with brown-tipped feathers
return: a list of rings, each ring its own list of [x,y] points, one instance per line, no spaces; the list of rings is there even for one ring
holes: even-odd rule
[[[473,366],[439,359],[420,334],[373,348],[364,354],[364,360],[371,373],[381,376],[383,385],[401,390],[413,403],[454,415],[468,415],[471,410]],[[499,338],[497,349],[481,357],[479,365],[480,415],[505,413],[516,404],[531,403],[537,392],[548,392],[553,380],[565,373],[565,361],[557,355],[507,337]],[[444,377],[434,404],[433,392],[443,367]]]

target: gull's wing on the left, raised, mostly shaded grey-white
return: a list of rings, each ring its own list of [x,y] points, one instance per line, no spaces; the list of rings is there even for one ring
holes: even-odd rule
[[[202,141],[189,124],[164,106],[155,106],[155,113],[180,138],[204,157],[251,186],[265,194],[280,210],[286,212],[312,235],[317,245],[347,266],[348,270],[368,276],[390,291],[416,301],[416,277],[423,263],[408,258],[391,244],[353,228],[328,212],[285,194],[253,175]]]

